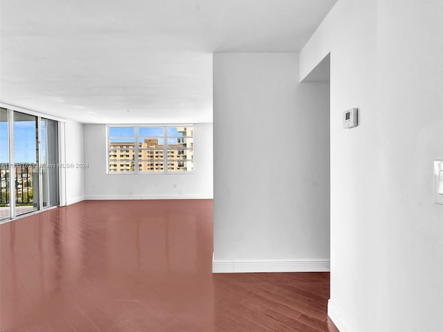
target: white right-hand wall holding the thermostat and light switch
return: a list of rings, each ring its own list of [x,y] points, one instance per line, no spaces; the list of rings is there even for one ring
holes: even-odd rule
[[[341,0],[300,53],[331,52],[331,300],[344,331],[441,331],[443,2]],[[342,129],[343,111],[360,124]]]

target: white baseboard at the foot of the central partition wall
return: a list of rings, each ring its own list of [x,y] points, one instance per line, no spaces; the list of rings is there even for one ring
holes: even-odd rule
[[[213,260],[213,273],[329,272],[328,259]]]

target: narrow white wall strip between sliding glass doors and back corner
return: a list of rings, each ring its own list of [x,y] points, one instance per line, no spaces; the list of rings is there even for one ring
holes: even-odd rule
[[[84,161],[83,124],[66,120],[65,156],[66,156],[66,205],[84,199]]]

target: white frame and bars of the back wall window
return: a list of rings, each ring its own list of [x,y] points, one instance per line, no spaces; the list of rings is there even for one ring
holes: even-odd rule
[[[139,170],[139,163],[143,163],[143,161],[147,161],[147,160],[141,160],[141,158],[139,157],[139,154],[142,154],[142,151],[144,151],[145,149],[141,148],[138,146],[138,139],[140,138],[140,136],[138,135],[138,129],[139,128],[143,128],[143,127],[150,127],[150,128],[163,128],[163,136],[156,136],[159,138],[163,138],[163,142],[165,144],[163,144],[163,149],[161,148],[154,148],[152,149],[152,151],[163,151],[163,158],[161,160],[158,159],[152,159],[149,160],[150,163],[154,164],[154,163],[163,163],[163,170],[159,170],[159,171],[155,171],[154,169],[150,169],[150,171],[140,171]],[[192,136],[183,136],[183,138],[192,138],[192,147],[181,147],[181,148],[170,148],[168,149],[168,138],[175,138],[175,136],[168,136],[168,128],[174,128],[174,127],[188,127],[191,129],[191,133]],[[120,160],[120,159],[111,159],[110,154],[111,154],[111,150],[113,150],[113,154],[116,154],[116,152],[120,149],[127,149],[125,148],[125,146],[123,147],[113,147],[111,148],[111,142],[110,142],[110,135],[109,135],[109,129],[110,128],[134,128],[134,160]],[[194,142],[194,124],[106,124],[106,174],[194,174],[194,153],[195,153],[195,142]],[[121,136],[121,138],[129,138],[129,136]],[[178,136],[179,137],[179,136]],[[130,137],[132,139],[132,137]],[[118,143],[118,142],[117,142]],[[116,143],[114,143],[113,145],[118,145]],[[132,148],[129,148],[132,149]],[[192,151],[192,159],[190,159],[190,161],[192,161],[192,170],[190,171],[170,171],[168,170],[169,168],[169,163],[179,163],[179,161],[186,161],[186,160],[170,160],[168,158],[169,154],[168,151],[170,150],[190,150]],[[114,152],[115,151],[115,152]],[[114,164],[116,163],[127,163],[127,162],[133,162],[134,163],[134,171],[130,171],[128,169],[121,169],[118,172],[111,172],[111,167],[110,167],[110,163],[113,163],[113,167]],[[160,167],[160,166],[159,166]],[[130,172],[129,172],[130,171]]]

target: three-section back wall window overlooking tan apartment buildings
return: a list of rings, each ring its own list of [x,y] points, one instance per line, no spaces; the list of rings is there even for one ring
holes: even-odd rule
[[[109,173],[194,171],[192,126],[108,126],[107,135]]]

